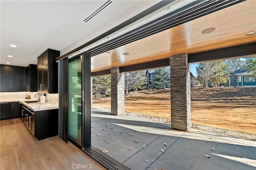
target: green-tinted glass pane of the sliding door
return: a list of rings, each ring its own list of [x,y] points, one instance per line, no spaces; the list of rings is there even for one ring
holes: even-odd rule
[[[81,146],[82,141],[82,59],[68,63],[68,139]]]

